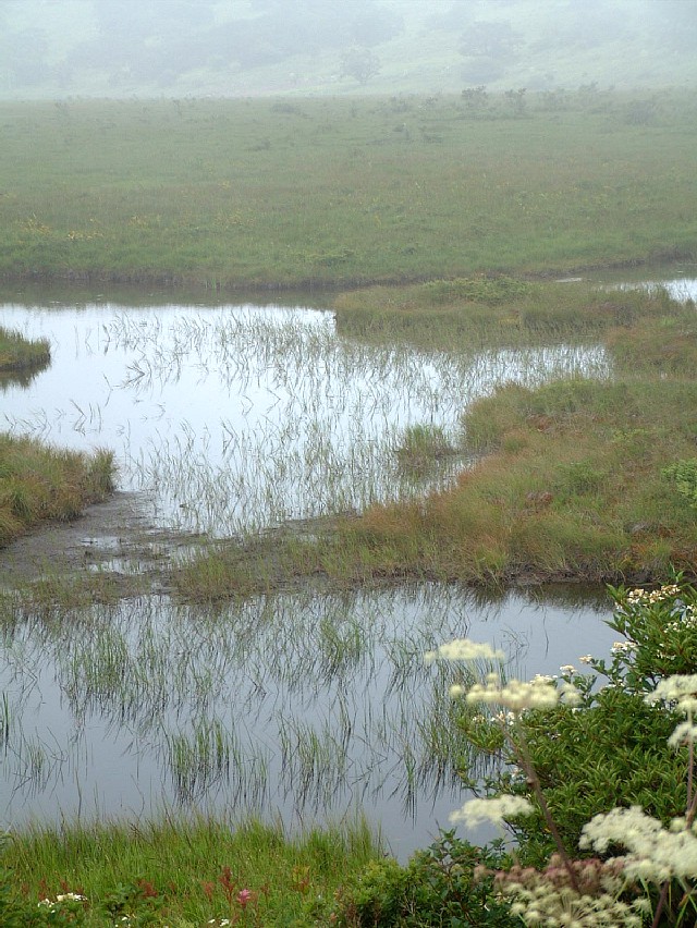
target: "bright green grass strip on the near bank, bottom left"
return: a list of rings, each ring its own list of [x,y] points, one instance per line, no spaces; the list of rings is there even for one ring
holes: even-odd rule
[[[327,924],[334,892],[379,856],[379,842],[363,821],[299,837],[254,820],[37,827],[4,843],[0,864],[12,883],[1,902],[16,925],[39,924],[28,919],[40,900],[72,892],[85,898],[77,906],[81,924],[100,928],[299,928]]]

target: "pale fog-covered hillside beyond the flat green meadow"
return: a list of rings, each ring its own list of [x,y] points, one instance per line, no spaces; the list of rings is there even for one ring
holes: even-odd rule
[[[697,0],[0,0],[0,99],[697,82]]]

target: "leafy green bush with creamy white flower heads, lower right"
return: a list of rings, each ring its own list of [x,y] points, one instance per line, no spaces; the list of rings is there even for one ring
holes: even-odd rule
[[[697,924],[697,594],[677,575],[611,595],[622,640],[609,661],[579,658],[590,673],[490,672],[452,688],[466,737],[502,760],[452,820],[514,833],[517,863],[496,887],[525,925],[686,928]]]

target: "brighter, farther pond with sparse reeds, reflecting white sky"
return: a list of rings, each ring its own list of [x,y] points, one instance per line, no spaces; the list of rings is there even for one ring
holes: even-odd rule
[[[5,325],[49,338],[53,363],[8,390],[3,427],[115,451],[121,488],[156,524],[229,536],[363,510],[443,486],[464,459],[404,474],[415,424],[457,443],[467,403],[502,381],[607,376],[603,351],[557,345],[447,354],[338,337],[333,314],[252,305],[7,305]]]

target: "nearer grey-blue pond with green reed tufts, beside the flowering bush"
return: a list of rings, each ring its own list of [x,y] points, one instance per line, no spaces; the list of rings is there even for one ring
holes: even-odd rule
[[[362,807],[401,853],[462,802],[447,696],[460,670],[425,667],[424,651],[466,634],[533,674],[607,655],[614,635],[604,599],[487,602],[437,584],[216,613],[162,597],[7,613],[5,825],[167,805],[292,826]]]

